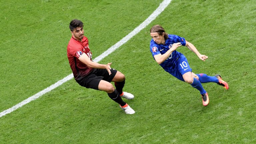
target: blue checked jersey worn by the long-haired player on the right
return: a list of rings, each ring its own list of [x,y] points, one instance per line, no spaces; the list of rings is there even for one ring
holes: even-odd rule
[[[152,53],[153,58],[154,58],[154,55],[166,53],[172,47],[172,45],[174,43],[178,43],[178,42],[180,42],[181,45],[183,45],[183,46],[186,45],[185,38],[177,36],[177,35],[172,35],[172,34],[168,34],[168,39],[165,40],[165,44],[163,44],[163,45],[157,44],[152,39],[150,41],[150,51]],[[160,66],[167,72],[173,72],[175,70],[177,59],[180,56],[184,56],[184,55],[175,50],[171,53],[171,55],[163,63],[160,64]]]

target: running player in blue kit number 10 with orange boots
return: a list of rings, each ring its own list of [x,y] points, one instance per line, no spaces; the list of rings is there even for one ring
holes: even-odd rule
[[[150,29],[150,51],[155,61],[168,73],[177,79],[189,83],[192,87],[198,89],[202,95],[203,105],[209,104],[208,93],[201,83],[215,82],[225,89],[228,89],[228,83],[223,81],[219,74],[208,76],[206,74],[194,74],[188,64],[187,58],[176,49],[180,46],[186,46],[194,52],[199,59],[205,61],[208,56],[198,52],[196,47],[185,40],[185,38],[167,34],[160,25],[155,25]]]

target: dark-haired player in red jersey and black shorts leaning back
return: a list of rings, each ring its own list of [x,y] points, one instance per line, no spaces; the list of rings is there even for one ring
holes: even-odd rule
[[[88,39],[84,36],[83,22],[74,19],[70,22],[69,28],[72,37],[67,46],[67,56],[74,78],[78,84],[86,88],[102,90],[117,102],[126,114],[134,114],[135,111],[122,100],[133,99],[134,96],[123,92],[125,76],[121,72],[112,69],[108,64],[99,64],[92,61]],[[115,82],[115,87],[110,82]]]

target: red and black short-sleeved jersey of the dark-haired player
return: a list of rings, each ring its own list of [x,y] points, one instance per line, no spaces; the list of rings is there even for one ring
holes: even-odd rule
[[[83,53],[92,60],[87,37],[84,36],[82,42],[80,42],[72,36],[67,46],[67,56],[75,79],[84,77],[93,70],[78,59]]]

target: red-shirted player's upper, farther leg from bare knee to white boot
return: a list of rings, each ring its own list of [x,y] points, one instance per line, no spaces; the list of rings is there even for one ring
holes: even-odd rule
[[[125,76],[121,72],[117,71],[115,77],[112,79],[115,82],[115,87],[121,97],[126,99],[133,99],[134,95],[128,92],[123,92],[123,87],[125,84]]]

